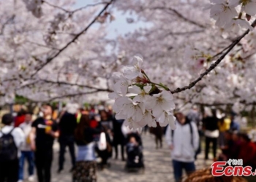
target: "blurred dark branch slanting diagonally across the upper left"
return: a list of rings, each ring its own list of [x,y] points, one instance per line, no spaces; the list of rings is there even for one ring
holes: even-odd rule
[[[110,4],[112,4],[113,1],[114,0],[110,0],[105,5],[105,7],[99,12],[99,14],[96,17],[94,17],[94,20],[92,20],[91,23],[89,23],[89,25],[87,25],[86,28],[83,29],[83,31],[80,31],[80,33],[76,34],[75,37],[71,41],[69,41],[64,47],[62,47],[58,52],[56,52],[56,54],[54,54],[52,57],[48,58],[46,60],[46,62],[42,64],[42,66],[40,66],[39,68],[36,69],[36,71],[34,72],[34,74],[31,75],[31,77],[36,75],[38,71],[40,71],[42,68],[44,68],[46,65],[48,65],[48,63],[50,63],[54,58],[58,57],[61,54],[61,52],[66,50],[70,44],[75,42],[83,33],[88,31],[88,29],[91,27],[91,25],[93,25],[97,21],[97,19],[102,15],[103,12],[105,12],[106,9],[108,9],[108,7],[110,6]]]

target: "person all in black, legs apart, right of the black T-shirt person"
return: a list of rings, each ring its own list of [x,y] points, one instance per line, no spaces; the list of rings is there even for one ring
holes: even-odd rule
[[[59,122],[59,145],[60,145],[60,152],[59,152],[59,170],[58,173],[64,169],[64,154],[66,148],[69,148],[69,154],[72,161],[72,169],[75,167],[75,128],[77,126],[77,119],[75,117],[75,112],[72,114],[70,111],[65,111],[63,116]]]

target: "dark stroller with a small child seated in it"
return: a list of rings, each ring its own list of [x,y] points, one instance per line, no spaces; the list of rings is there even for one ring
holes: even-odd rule
[[[127,163],[125,170],[128,172],[144,172],[143,146],[138,133],[130,133],[127,136]]]

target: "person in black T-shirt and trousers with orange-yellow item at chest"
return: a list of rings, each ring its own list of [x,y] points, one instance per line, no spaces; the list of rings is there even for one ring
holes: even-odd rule
[[[52,108],[42,106],[43,117],[32,124],[31,149],[35,151],[37,178],[39,182],[50,182],[50,169],[53,161],[53,141],[59,137],[58,125],[51,119]]]

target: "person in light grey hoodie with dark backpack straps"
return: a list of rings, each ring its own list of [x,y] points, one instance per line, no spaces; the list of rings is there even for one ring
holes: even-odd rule
[[[182,170],[187,174],[195,171],[195,151],[199,146],[199,135],[195,122],[184,114],[176,114],[176,130],[167,127],[165,138],[171,150],[175,181],[181,181]]]

